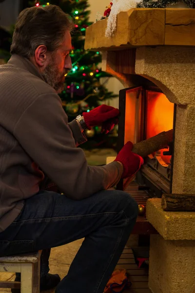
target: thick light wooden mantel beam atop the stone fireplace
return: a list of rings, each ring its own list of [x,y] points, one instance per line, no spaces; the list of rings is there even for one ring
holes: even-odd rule
[[[107,19],[87,28],[85,49],[113,51],[140,46],[195,46],[195,9],[132,8],[120,12],[112,38],[105,37],[106,26]]]

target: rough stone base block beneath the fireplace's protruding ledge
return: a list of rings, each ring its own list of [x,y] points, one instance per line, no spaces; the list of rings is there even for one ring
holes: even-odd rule
[[[153,293],[195,292],[195,240],[151,235],[149,288]]]

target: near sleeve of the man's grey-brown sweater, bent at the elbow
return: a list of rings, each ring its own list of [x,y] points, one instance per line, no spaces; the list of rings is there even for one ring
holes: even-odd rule
[[[59,96],[40,95],[22,114],[14,136],[60,190],[75,200],[86,198],[117,184],[122,166],[88,166],[85,154],[77,148]]]

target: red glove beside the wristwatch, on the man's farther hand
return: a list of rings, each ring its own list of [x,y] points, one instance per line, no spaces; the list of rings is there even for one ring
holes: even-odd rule
[[[111,106],[100,105],[82,115],[88,129],[91,129],[92,126],[101,126],[101,132],[108,133],[118,123],[119,110]]]

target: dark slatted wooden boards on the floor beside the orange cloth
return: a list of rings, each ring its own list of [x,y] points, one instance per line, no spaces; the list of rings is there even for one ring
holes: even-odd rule
[[[129,274],[129,281],[132,282],[132,286],[124,293],[152,293],[148,288],[148,270],[138,269],[130,248],[125,247],[116,269],[126,269]]]

